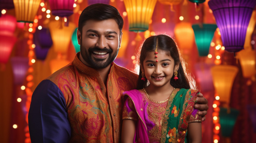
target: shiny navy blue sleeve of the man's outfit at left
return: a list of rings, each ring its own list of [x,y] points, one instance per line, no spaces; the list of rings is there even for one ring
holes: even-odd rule
[[[67,116],[61,90],[50,80],[42,81],[33,92],[28,114],[31,142],[68,142],[71,128]]]

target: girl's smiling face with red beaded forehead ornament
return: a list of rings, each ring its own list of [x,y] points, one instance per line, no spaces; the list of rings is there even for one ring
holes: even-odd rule
[[[154,51],[147,53],[143,61],[145,77],[151,86],[170,86],[170,80],[174,72],[179,69],[179,65],[175,66],[174,59],[167,55],[165,51],[158,50],[157,56],[156,58]],[[156,62],[156,59],[158,59],[158,62]]]

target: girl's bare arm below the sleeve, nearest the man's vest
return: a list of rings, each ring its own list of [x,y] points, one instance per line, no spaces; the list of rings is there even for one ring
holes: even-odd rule
[[[122,125],[122,143],[133,143],[133,138],[135,134],[135,120],[123,119]]]

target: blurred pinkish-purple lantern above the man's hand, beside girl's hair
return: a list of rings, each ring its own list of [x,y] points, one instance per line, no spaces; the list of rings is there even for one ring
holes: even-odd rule
[[[197,75],[197,81],[200,83],[201,90],[212,91],[214,89],[211,75],[211,67],[213,65],[207,63],[196,63],[195,71]]]

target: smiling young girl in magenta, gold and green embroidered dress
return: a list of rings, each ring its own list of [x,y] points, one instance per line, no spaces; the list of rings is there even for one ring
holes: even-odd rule
[[[201,142],[201,116],[193,108],[199,91],[190,89],[195,81],[173,39],[147,38],[139,61],[139,90],[124,92],[122,142]]]

